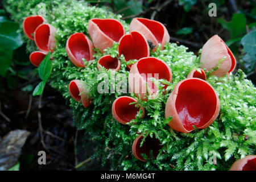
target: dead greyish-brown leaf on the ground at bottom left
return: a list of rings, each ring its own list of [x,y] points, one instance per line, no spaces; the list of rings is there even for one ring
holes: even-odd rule
[[[0,140],[0,171],[13,167],[30,133],[26,130],[10,131]]]

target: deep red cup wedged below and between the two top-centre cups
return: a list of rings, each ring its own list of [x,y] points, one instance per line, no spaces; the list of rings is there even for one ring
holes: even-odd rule
[[[131,34],[123,35],[118,46],[119,56],[125,56],[125,60],[141,59],[150,56],[150,48],[146,38],[138,32],[132,31]],[[127,65],[130,68],[131,65]]]

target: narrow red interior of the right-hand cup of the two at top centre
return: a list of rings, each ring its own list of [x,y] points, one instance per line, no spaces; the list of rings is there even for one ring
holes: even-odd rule
[[[164,36],[164,28],[162,24],[155,22],[153,20],[144,19],[144,18],[137,18],[139,22],[144,24],[152,32],[152,34],[155,36],[156,40],[158,40],[158,43],[162,43],[163,36]]]

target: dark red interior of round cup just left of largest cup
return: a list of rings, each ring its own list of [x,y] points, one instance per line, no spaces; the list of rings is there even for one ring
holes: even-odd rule
[[[139,107],[135,107],[135,104],[130,104],[131,102],[135,102],[135,100],[129,97],[120,97],[115,102],[115,113],[117,113],[117,116],[124,123],[130,122],[131,119],[135,119],[136,114],[139,111]]]

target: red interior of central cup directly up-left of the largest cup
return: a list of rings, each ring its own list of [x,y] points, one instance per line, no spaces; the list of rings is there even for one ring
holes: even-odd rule
[[[137,68],[143,80],[148,83],[148,87],[151,89],[152,93],[156,93],[158,88],[150,78],[154,77],[156,80],[171,80],[170,71],[166,64],[154,57],[139,60]],[[156,74],[158,74],[158,76]]]

